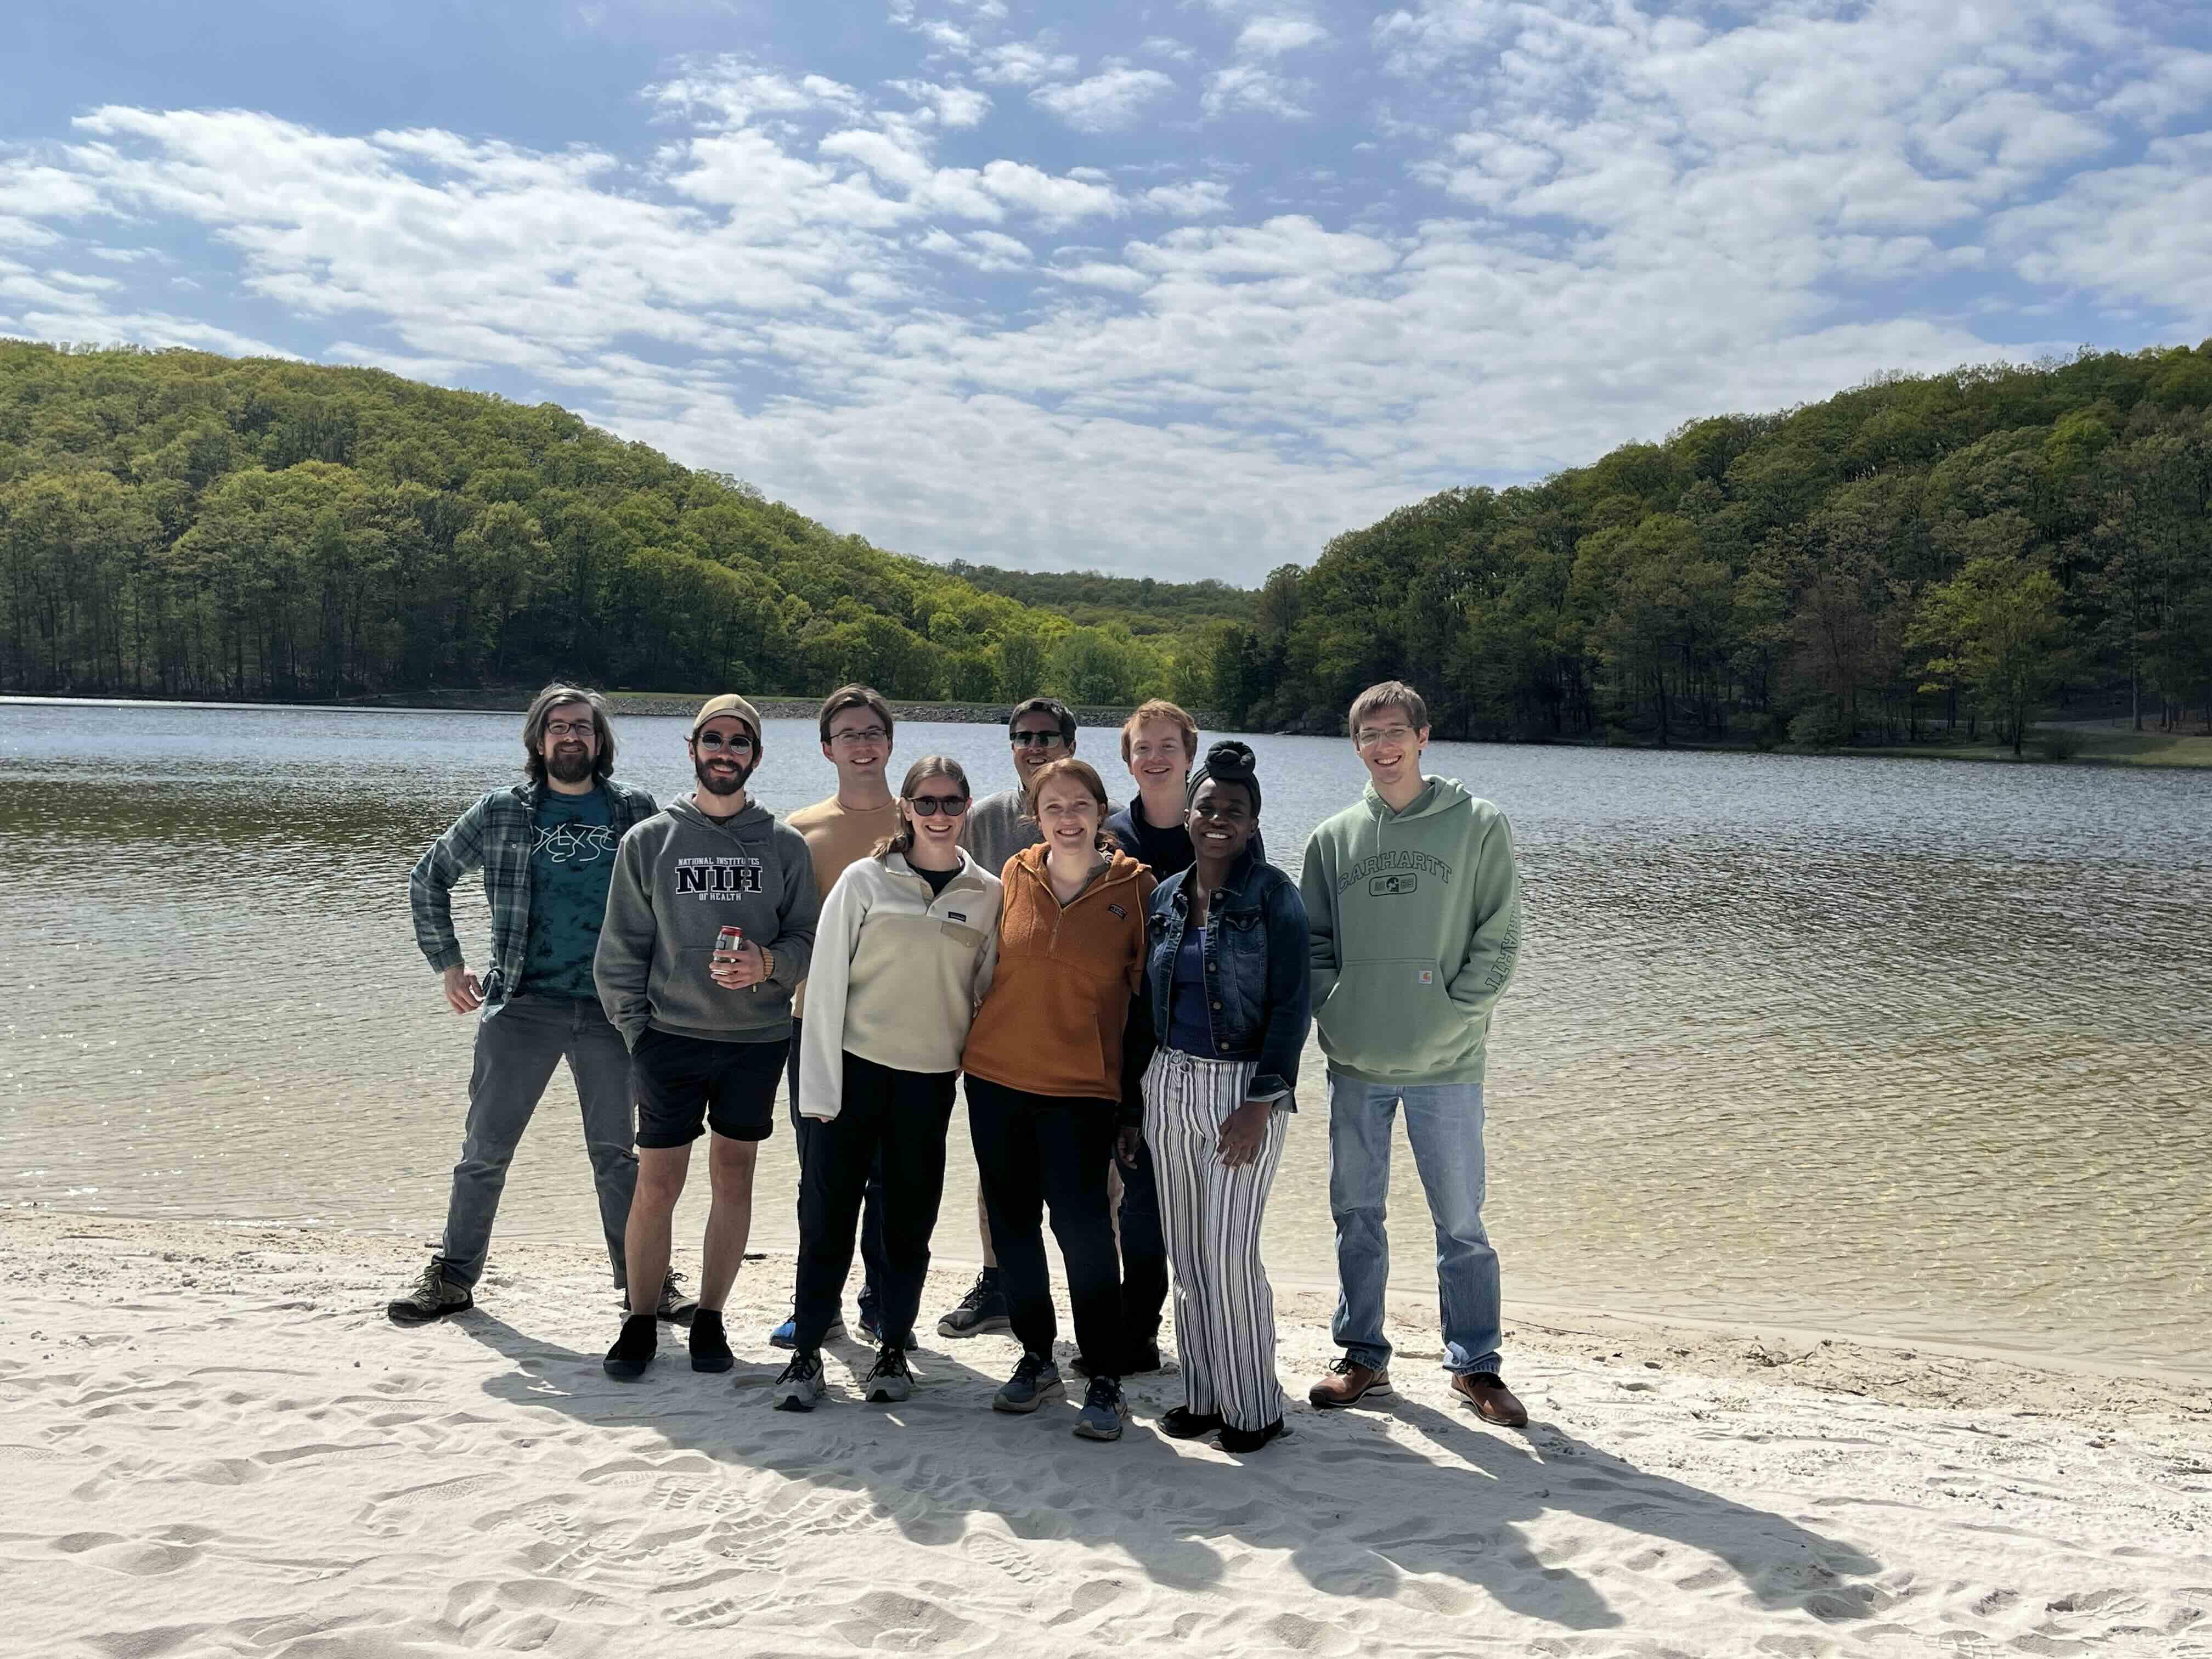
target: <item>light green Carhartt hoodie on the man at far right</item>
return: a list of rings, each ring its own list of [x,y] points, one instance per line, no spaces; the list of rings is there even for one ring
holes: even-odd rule
[[[1305,847],[1314,1026],[1329,1071],[1480,1084],[1491,1009],[1520,958],[1513,830],[1455,779],[1405,812],[1369,783]]]

